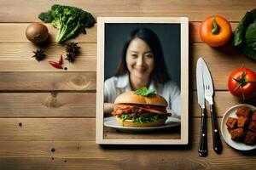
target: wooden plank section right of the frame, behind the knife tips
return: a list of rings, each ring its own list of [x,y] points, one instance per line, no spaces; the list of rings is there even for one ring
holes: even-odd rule
[[[242,65],[253,71],[256,68],[256,63],[252,59],[248,59],[230,44],[221,48],[211,48],[204,43],[195,43],[191,46],[190,51],[192,57],[189,59],[189,73],[192,89],[196,89],[196,62],[199,57],[202,57],[207,62],[216,90],[227,90],[227,81],[231,72],[240,68]]]

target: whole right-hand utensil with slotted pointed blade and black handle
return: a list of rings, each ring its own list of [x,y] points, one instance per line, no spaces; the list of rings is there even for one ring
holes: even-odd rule
[[[205,89],[205,98],[210,105],[211,117],[212,117],[212,140],[213,140],[213,150],[220,154],[223,150],[221,139],[218,132],[218,122],[216,120],[215,112],[213,111],[213,83],[211,73],[207,67],[207,63],[204,59],[201,60],[202,72],[203,72],[203,82]]]

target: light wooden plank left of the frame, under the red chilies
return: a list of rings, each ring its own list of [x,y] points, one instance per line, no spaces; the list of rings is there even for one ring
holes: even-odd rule
[[[74,63],[64,60],[67,71],[96,71],[96,43],[80,43],[80,54]],[[46,59],[38,62],[32,58],[38,46],[32,43],[0,43],[0,71],[64,71],[49,65],[49,60],[58,61],[61,54],[66,56],[65,47],[58,44],[41,46],[47,54]]]

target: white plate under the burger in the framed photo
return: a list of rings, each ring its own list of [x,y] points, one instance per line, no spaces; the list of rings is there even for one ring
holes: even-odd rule
[[[130,132],[143,132],[143,131],[152,131],[169,127],[176,127],[180,125],[180,119],[176,117],[168,117],[165,125],[160,127],[123,127],[120,126],[115,118],[115,116],[104,118],[104,126],[105,127],[113,127],[121,131],[130,131]]]

